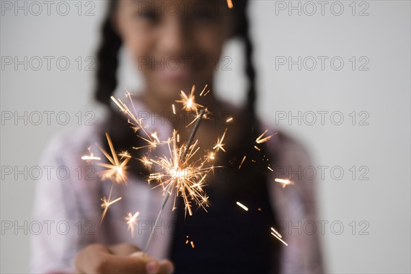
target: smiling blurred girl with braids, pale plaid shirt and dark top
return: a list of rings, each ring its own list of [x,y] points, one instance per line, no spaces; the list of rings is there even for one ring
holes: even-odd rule
[[[255,113],[256,71],[249,38],[247,2],[234,1],[227,8],[224,0],[215,1],[129,1],[109,2],[98,52],[97,99],[110,110],[108,118],[94,127],[80,129],[55,138],[45,152],[44,164],[66,166],[69,179],[51,178],[40,182],[36,193],[35,219],[58,225],[58,232],[42,232],[33,237],[33,266],[36,273],[319,273],[322,271],[319,243],[314,233],[301,231],[301,222],[315,221],[312,182],[290,177],[294,186],[282,188],[274,182],[281,177],[272,167],[298,170],[308,165],[306,153],[284,136],[276,134],[260,151],[253,148],[264,131]],[[172,3],[172,4],[171,4]],[[144,79],[140,95],[132,96],[134,107],[150,130],[166,140],[177,129],[187,140],[192,127],[186,127],[181,112],[169,121],[164,112],[179,99],[179,91],[189,92],[192,84],[213,89],[215,67],[223,45],[230,38],[245,44],[245,73],[249,80],[247,102],[240,109],[219,101],[213,92],[199,97],[213,119],[202,121],[197,132],[199,147],[211,148],[216,136],[228,127],[224,149],[219,153],[214,177],[208,176],[208,212],[197,210],[185,216],[184,203],[177,199],[166,206],[147,254],[142,249],[161,206],[162,192],[151,189],[146,169],[136,160],[144,151],[130,151],[128,185],[108,182],[87,171],[80,160],[87,147],[105,144],[108,132],[116,151],[139,147],[127,117],[110,104],[116,89],[116,71],[121,47],[129,52]],[[198,60],[202,60],[201,66]],[[162,115],[163,114],[163,115]],[[229,114],[229,115],[227,115]],[[273,130],[271,130],[273,132]],[[105,146],[110,151],[108,146]],[[243,156],[247,159],[238,169]],[[103,156],[102,156],[103,157]],[[252,160],[252,161],[251,161]],[[97,170],[98,171],[98,170]],[[94,175],[94,174],[92,174]],[[284,174],[282,174],[284,177]],[[113,204],[99,225],[100,197],[114,193],[122,200]],[[242,210],[236,201],[249,206]],[[127,232],[124,216],[140,212],[136,236]],[[301,221],[301,222],[300,222]],[[299,223],[300,222],[300,223]],[[60,228],[60,227],[65,227]],[[276,227],[288,247],[270,234]],[[186,245],[186,241],[193,242]],[[169,260],[163,260],[169,258]]]

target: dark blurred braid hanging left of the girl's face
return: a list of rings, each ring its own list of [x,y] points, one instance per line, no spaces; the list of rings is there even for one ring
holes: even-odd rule
[[[112,27],[112,13],[115,10],[116,1],[110,1],[108,16],[101,29],[101,45],[97,51],[97,83],[95,97],[97,101],[108,105],[110,95],[116,89],[116,71],[119,66],[119,50],[121,48],[121,38]]]

